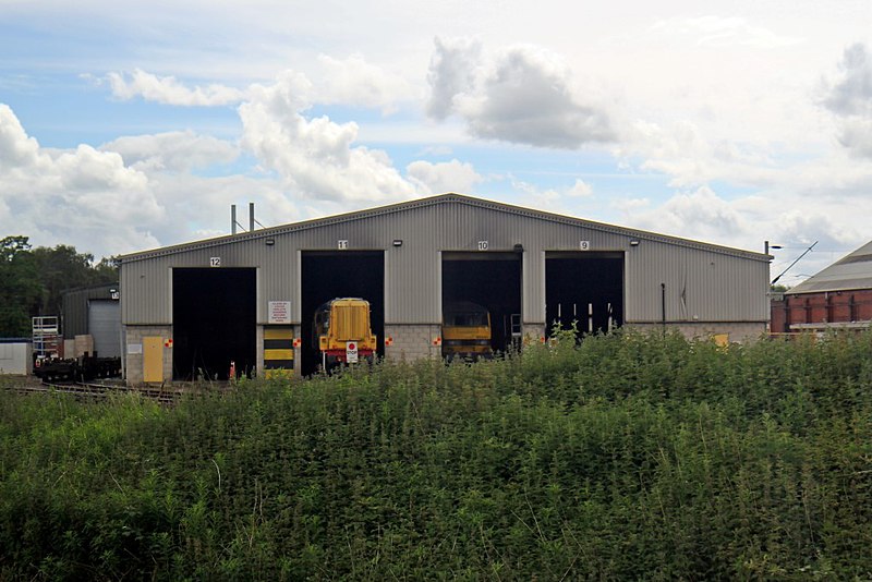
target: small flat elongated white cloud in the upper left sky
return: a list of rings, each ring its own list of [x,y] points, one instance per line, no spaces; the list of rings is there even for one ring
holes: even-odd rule
[[[239,156],[237,146],[192,131],[119,137],[100,149],[117,151],[129,167],[144,171],[184,172],[228,163]]]

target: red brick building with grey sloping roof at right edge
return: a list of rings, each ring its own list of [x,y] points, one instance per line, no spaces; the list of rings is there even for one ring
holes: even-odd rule
[[[772,300],[776,334],[871,325],[872,242]]]

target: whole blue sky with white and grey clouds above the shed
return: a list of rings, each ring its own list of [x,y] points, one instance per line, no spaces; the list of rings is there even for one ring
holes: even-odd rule
[[[445,192],[872,239],[869,0],[0,0],[0,235],[97,258]],[[586,5],[585,5],[586,4]]]

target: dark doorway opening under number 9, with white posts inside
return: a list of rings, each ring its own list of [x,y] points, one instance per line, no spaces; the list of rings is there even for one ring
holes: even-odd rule
[[[607,331],[623,323],[622,253],[545,255],[545,332],[555,324],[581,334]]]

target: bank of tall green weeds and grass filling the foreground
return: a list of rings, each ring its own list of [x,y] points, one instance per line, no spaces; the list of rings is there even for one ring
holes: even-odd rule
[[[872,336],[2,392],[0,579],[869,579]]]

